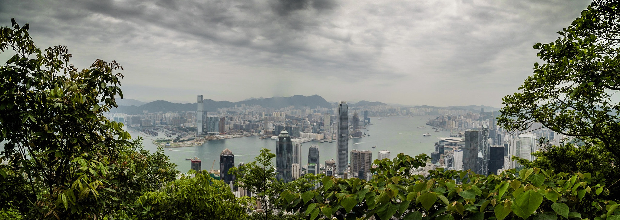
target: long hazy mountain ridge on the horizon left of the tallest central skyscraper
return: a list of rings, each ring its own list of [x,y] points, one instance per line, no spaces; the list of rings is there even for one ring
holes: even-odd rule
[[[216,112],[218,108],[231,108],[235,105],[247,104],[247,105],[260,105],[265,108],[286,108],[288,106],[321,106],[322,108],[331,108],[332,104],[328,103],[321,96],[303,96],[296,95],[291,97],[272,97],[263,99],[250,99],[245,101],[238,101],[232,103],[230,101],[213,101],[212,99],[205,99],[205,111]],[[148,112],[170,112],[170,111],[196,111],[197,103],[170,103],[169,101],[157,100],[150,103],[142,104],[140,106],[118,106],[110,110],[112,113],[125,113],[125,114],[141,114],[144,110]]]

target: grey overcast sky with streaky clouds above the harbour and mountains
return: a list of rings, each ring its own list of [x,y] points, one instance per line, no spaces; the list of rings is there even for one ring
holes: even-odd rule
[[[42,48],[123,67],[125,98],[321,95],[500,107],[590,1],[0,1]],[[2,54],[6,57],[6,54]]]

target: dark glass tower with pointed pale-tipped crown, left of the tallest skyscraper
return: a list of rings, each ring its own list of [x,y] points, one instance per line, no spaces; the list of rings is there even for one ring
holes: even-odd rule
[[[286,130],[282,130],[278,135],[275,143],[275,163],[276,178],[283,182],[291,182],[293,174],[291,168],[293,166],[293,143],[291,135]]]

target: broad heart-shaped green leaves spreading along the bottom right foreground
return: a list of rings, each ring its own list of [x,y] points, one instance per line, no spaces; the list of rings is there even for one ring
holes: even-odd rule
[[[407,160],[410,157],[399,155],[392,164],[409,163]],[[370,181],[324,177],[324,185],[316,190],[282,192],[279,205],[286,211],[306,214],[311,220],[370,216],[381,220],[613,219],[620,214],[617,201],[603,199],[609,190],[598,181],[600,174],[531,168],[489,176],[443,169],[431,171],[427,177],[387,176],[392,174],[388,171],[400,169],[380,166]],[[311,199],[306,198],[308,195]]]

